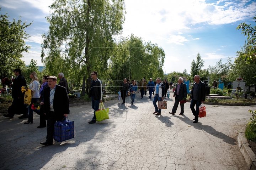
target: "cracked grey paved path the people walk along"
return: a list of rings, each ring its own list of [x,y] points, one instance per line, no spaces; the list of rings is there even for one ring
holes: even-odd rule
[[[256,106],[206,105],[207,117],[194,124],[190,103],[185,115],[179,116],[178,108],[170,116],[171,97],[168,109],[153,115],[153,98],[139,96],[134,106],[129,98],[126,105],[117,99],[105,102],[110,119],[95,124],[87,123],[90,104],[70,107],[75,138],[53,146],[39,144],[46,140],[46,128],[36,128],[36,113],[28,125],[18,115],[0,114],[0,169],[247,169],[236,137],[250,117],[247,110]]]

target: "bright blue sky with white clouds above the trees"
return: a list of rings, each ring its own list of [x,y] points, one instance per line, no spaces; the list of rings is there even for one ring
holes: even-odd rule
[[[52,0],[1,0],[0,14],[8,13],[13,18],[27,21],[32,25],[26,29],[31,35],[26,44],[31,46],[24,52],[22,60],[26,65],[31,59],[41,63],[42,34],[49,23],[48,6]],[[164,73],[190,73],[191,62],[197,53],[204,60],[203,69],[214,66],[221,58],[236,57],[236,51],[244,45],[246,36],[236,27],[246,22],[255,26],[254,0],[125,0],[126,21],[122,36],[131,34],[141,37],[144,42],[158,44],[165,51]]]

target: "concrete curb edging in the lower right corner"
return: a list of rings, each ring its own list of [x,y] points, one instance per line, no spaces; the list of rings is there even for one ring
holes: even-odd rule
[[[245,138],[245,128],[242,128],[241,131],[238,133],[238,146],[242,155],[245,158],[245,162],[248,165],[249,170],[256,170],[256,155],[250,148],[247,139]]]

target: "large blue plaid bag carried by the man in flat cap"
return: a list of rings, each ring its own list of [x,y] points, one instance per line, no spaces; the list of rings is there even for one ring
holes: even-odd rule
[[[65,119],[65,120],[64,120]],[[66,120],[55,122],[54,124],[54,140],[62,142],[75,137],[74,121]]]

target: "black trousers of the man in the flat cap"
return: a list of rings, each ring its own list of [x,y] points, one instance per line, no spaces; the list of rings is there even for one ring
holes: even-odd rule
[[[46,136],[46,142],[47,143],[53,143],[53,135],[54,135],[54,123],[56,121],[62,121],[64,116],[57,117],[54,112],[49,111],[49,117],[47,119],[47,136]]]

